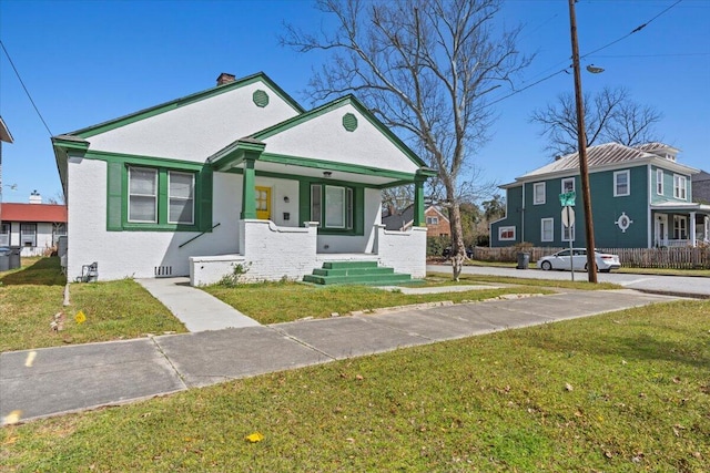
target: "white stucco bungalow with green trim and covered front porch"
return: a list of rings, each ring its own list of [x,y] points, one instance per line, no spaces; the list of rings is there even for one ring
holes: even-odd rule
[[[354,96],[304,111],[265,74],[52,138],[69,210],[68,277],[300,279],[325,261],[426,271],[434,173]],[[414,184],[415,225],[381,224],[381,191]]]

